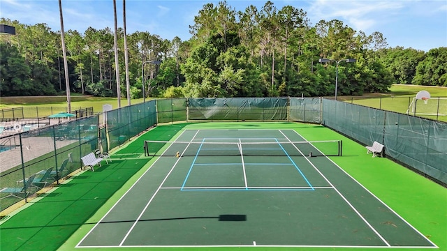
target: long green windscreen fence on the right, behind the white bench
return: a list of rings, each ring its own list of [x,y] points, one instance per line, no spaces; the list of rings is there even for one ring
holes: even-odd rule
[[[447,123],[326,99],[322,123],[447,183]]]

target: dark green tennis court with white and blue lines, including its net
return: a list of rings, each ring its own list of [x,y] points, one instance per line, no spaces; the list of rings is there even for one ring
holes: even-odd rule
[[[150,168],[77,248],[437,248],[333,162],[346,158],[339,140],[289,129],[141,137],[145,154],[132,157],[155,155]]]

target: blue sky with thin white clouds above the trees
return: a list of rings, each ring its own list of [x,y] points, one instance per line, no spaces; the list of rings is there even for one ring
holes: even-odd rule
[[[219,1],[154,1],[126,0],[127,33],[149,31],[161,38],[182,40],[191,37],[193,24],[205,3]],[[272,1],[280,9],[291,5],[307,12],[312,25],[320,20],[342,20],[356,31],[367,35],[379,31],[390,47],[412,47],[427,52],[447,47],[447,0],[288,0]],[[228,0],[236,10],[250,4],[261,10],[265,1]],[[122,27],[122,0],[117,0],[118,25]],[[83,33],[89,26],[113,29],[112,0],[62,0],[64,29]],[[53,31],[60,30],[57,0],[0,0],[0,17],[22,24],[46,23]]]

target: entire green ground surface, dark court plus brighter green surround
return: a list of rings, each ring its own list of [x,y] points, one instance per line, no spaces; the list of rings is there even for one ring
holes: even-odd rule
[[[3,220],[1,250],[447,249],[446,188],[323,126],[159,126],[112,160]]]

